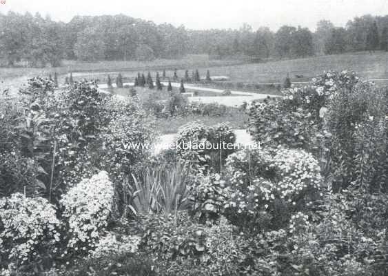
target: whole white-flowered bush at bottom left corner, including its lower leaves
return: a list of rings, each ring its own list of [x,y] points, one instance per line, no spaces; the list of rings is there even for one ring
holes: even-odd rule
[[[41,197],[20,193],[0,199],[0,268],[35,270],[50,267],[60,241],[61,221],[55,207]]]

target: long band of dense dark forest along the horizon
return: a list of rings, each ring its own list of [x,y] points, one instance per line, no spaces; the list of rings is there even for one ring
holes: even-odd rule
[[[315,32],[282,26],[276,32],[243,24],[239,30],[187,30],[119,15],[76,16],[69,23],[40,14],[0,14],[2,66],[59,66],[62,59],[147,60],[209,54],[252,61],[388,50],[388,16],[365,15],[345,28],[319,21]]]

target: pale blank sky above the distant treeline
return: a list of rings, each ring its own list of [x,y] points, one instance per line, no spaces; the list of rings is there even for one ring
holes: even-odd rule
[[[1,1],[1,0],[0,0]],[[387,0],[2,0],[0,12],[50,15],[68,22],[75,15],[125,14],[172,23],[188,29],[240,28],[247,23],[277,30],[280,26],[302,26],[315,30],[316,23],[328,19],[345,26],[363,14],[388,14]]]

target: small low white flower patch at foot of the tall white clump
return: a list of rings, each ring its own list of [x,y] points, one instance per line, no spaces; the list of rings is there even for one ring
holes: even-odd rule
[[[139,236],[120,236],[117,239],[114,233],[108,232],[107,235],[99,239],[94,250],[90,250],[91,257],[103,257],[111,254],[136,253],[141,242]]]

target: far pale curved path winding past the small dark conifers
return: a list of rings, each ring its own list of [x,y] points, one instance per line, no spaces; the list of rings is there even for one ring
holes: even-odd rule
[[[164,86],[167,86],[167,82],[162,82]],[[134,83],[127,82],[123,83],[123,85],[133,86]],[[171,83],[171,85],[174,88],[179,88],[181,86],[181,83]],[[114,84],[112,86],[115,86]],[[108,85],[106,83],[99,84],[99,90],[103,93],[108,93],[105,89],[108,88]],[[216,92],[216,93],[222,93],[224,90],[222,89],[216,89],[216,88],[206,88],[206,87],[199,87],[199,86],[193,86],[191,84],[185,84],[185,88],[190,90],[198,90],[198,91],[209,91],[209,92]],[[232,94],[237,94],[241,96],[223,96],[223,97],[188,97],[189,101],[200,101],[202,103],[220,103],[225,106],[241,106],[244,102],[250,103],[251,101],[257,100],[257,99],[265,99],[267,97],[279,97],[278,95],[269,95],[269,94],[258,94],[253,92],[243,92],[243,91],[231,91]]]

